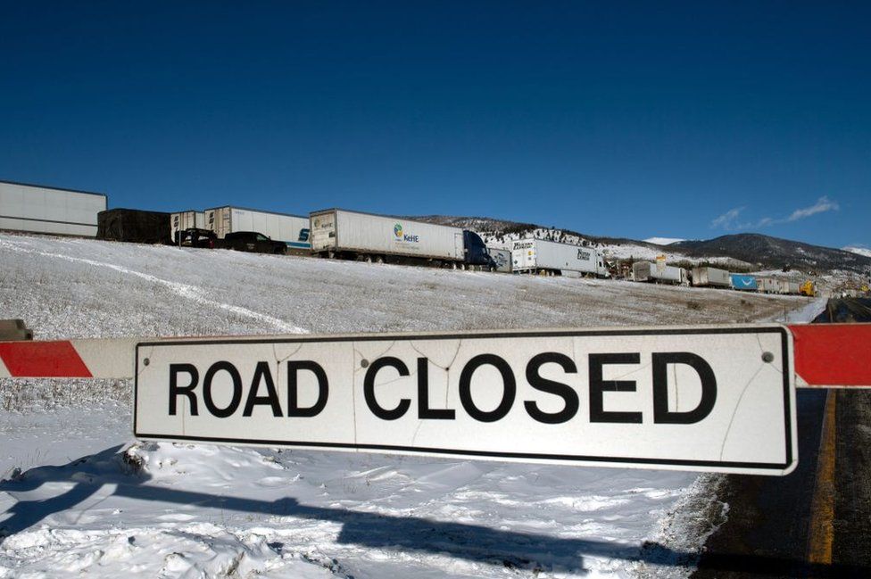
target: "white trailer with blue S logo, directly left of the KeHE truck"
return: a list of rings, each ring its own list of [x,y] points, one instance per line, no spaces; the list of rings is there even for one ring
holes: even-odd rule
[[[215,207],[205,210],[205,228],[214,231],[219,239],[228,233],[255,231],[273,241],[283,241],[288,248],[311,249],[309,218],[300,215],[243,207]]]

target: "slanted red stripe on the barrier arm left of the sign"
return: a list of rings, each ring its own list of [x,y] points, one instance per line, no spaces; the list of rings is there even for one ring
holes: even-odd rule
[[[92,377],[69,341],[0,343],[0,360],[16,378]]]

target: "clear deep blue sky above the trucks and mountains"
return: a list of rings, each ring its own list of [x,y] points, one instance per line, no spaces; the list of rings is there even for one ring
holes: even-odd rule
[[[0,4],[0,179],[871,246],[871,3]]]

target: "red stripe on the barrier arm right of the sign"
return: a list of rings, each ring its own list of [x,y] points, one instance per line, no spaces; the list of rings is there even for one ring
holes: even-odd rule
[[[871,324],[790,326],[795,373],[811,386],[871,385]]]

